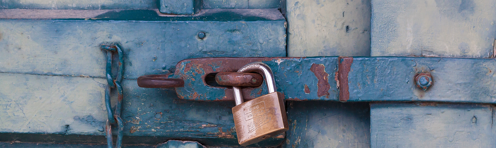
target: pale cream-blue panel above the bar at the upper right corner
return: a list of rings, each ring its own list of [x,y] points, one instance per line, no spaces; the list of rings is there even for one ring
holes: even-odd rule
[[[488,57],[495,0],[371,0],[372,56]]]

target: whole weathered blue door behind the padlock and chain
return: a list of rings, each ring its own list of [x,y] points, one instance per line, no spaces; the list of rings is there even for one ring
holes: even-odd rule
[[[3,0],[0,146],[107,147],[100,46],[116,43],[126,148],[241,147],[229,89],[201,75],[234,66],[213,57],[309,57],[264,59],[290,130],[248,147],[493,148],[494,3]],[[421,72],[427,90],[415,85]],[[188,78],[138,87],[146,74]]]

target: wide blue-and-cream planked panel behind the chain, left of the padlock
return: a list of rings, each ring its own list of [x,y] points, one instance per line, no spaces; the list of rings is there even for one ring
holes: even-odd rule
[[[176,139],[237,146],[234,103],[184,101],[171,89],[139,88],[135,79],[174,72],[187,58],[285,56],[285,21],[273,12],[220,9],[162,17],[122,10],[101,19],[0,19],[0,104],[6,107],[0,120],[9,121],[0,124],[0,141],[105,144],[106,52],[99,47],[118,42],[124,53],[124,145]],[[198,38],[199,32],[206,36]]]

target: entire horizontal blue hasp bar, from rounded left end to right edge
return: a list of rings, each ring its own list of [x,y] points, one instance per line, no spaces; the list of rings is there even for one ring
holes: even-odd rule
[[[495,59],[486,58],[188,59],[181,61],[176,67],[174,77],[185,79],[186,84],[183,88],[177,88],[176,92],[180,98],[186,100],[233,100],[231,88],[208,86],[204,84],[203,76],[214,72],[234,72],[254,61],[263,62],[272,68],[277,91],[283,92],[286,100],[496,103],[496,62]],[[416,86],[414,77],[420,72],[429,72],[433,77],[434,84],[427,91]],[[267,91],[264,84],[244,89],[245,99],[265,94]],[[345,91],[348,91],[348,95]]]

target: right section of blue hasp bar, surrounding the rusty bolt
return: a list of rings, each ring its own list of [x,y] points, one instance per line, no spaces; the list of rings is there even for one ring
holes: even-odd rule
[[[348,101],[436,101],[496,103],[494,59],[375,57],[354,58]],[[434,84],[423,91],[414,76],[427,71]]]

